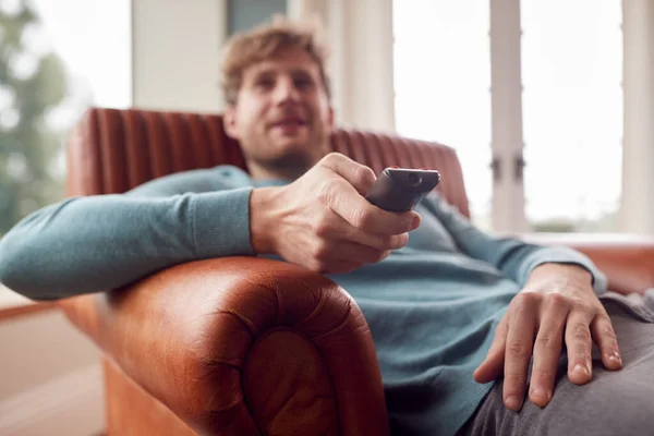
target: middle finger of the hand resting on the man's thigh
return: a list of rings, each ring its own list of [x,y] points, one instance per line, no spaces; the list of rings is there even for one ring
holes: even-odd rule
[[[554,393],[554,384],[558,361],[564,347],[564,330],[569,307],[560,293],[550,293],[546,298],[543,316],[534,342],[533,365],[529,399],[537,407],[549,403]]]

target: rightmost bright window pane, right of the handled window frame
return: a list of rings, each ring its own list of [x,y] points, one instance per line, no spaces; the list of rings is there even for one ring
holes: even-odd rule
[[[522,0],[526,216],[613,230],[621,184],[620,0]]]

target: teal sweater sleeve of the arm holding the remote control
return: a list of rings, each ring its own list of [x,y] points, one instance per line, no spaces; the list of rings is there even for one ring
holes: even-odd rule
[[[120,288],[185,262],[252,255],[252,187],[217,191],[220,173],[211,171],[33,213],[0,240],[0,282],[33,300],[57,300]]]

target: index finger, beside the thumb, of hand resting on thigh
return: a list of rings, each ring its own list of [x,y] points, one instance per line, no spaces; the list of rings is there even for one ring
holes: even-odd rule
[[[524,401],[529,361],[536,331],[541,295],[519,293],[513,298],[505,352],[504,401],[510,410],[519,410]]]

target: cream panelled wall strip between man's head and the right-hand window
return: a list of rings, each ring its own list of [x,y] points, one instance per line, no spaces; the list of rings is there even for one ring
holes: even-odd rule
[[[392,0],[288,0],[288,11],[325,26],[337,124],[395,132]]]

